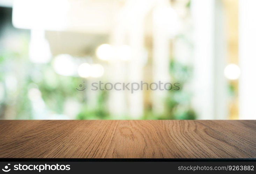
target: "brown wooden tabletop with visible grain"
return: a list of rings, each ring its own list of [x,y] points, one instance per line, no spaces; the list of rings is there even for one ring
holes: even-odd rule
[[[1,120],[0,158],[256,158],[256,120]]]

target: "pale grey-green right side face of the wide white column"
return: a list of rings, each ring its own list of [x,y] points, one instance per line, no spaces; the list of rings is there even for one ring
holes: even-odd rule
[[[228,119],[228,85],[224,76],[227,64],[227,38],[225,35],[224,4],[214,4],[214,119]]]

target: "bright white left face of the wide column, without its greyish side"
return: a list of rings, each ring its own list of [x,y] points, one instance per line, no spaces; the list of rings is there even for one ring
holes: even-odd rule
[[[193,107],[197,119],[214,119],[214,0],[192,0]]]

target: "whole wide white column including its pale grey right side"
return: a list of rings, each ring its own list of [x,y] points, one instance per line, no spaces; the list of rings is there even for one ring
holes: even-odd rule
[[[193,106],[198,119],[227,119],[226,38],[221,0],[192,0]]]

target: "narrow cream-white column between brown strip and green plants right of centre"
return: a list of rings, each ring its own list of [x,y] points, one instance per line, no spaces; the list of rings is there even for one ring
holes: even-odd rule
[[[172,16],[168,17],[169,3],[167,1],[161,1],[159,5],[153,11],[153,82],[158,84],[170,82],[169,66],[170,66],[170,36],[169,27],[167,25]],[[173,27],[173,26],[171,26]],[[155,88],[155,86],[153,86]],[[163,88],[163,85],[162,85]],[[162,114],[164,112],[164,100],[166,97],[166,90],[154,90],[152,92],[152,105],[153,112]]]

